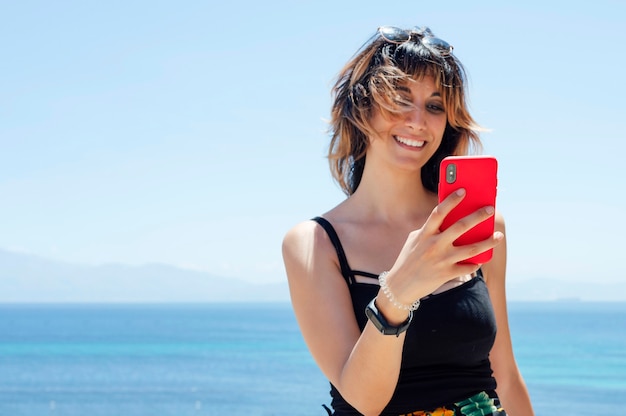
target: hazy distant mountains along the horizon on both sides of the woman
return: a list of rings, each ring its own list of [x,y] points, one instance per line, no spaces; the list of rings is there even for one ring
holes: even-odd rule
[[[626,281],[509,278],[510,301],[626,301]],[[288,302],[286,282],[253,284],[165,264],[84,266],[0,250],[2,302]]]

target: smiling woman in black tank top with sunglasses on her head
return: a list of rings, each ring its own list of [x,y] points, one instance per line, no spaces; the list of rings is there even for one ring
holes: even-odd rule
[[[439,163],[480,145],[465,79],[428,28],[382,27],[335,84],[329,160],[348,198],[283,242],[334,415],[533,414],[509,335],[502,217],[485,207],[439,231],[464,196],[438,204]],[[491,238],[453,246],[491,215]],[[459,263],[489,249],[487,264]]]

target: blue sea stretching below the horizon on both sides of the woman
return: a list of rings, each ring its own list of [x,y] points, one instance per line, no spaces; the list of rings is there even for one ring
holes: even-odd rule
[[[509,319],[537,415],[626,413],[626,303]],[[289,303],[0,305],[2,416],[326,415],[328,391]]]

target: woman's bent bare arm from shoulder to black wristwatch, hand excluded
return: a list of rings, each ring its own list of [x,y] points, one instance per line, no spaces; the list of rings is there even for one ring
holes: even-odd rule
[[[405,334],[382,335],[370,323],[361,334],[336,257],[313,221],[297,225],[283,241],[292,304],[313,358],[354,408],[379,415],[398,381]]]

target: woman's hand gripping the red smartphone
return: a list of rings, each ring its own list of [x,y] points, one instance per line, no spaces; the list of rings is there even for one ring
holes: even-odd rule
[[[475,244],[453,245],[470,228],[494,215],[492,206],[473,212],[445,231],[439,230],[444,218],[464,197],[464,189],[453,192],[435,207],[422,228],[409,234],[387,278],[399,302],[411,304],[455,277],[474,273],[480,265],[459,262],[495,247],[502,240],[504,235],[498,231]]]

